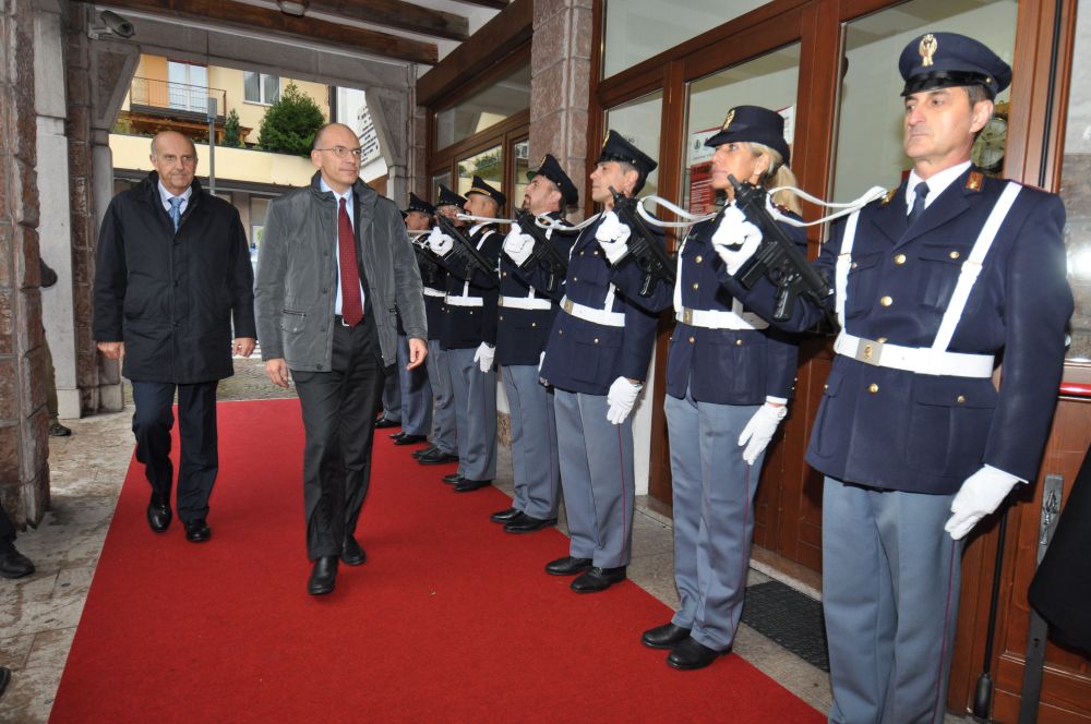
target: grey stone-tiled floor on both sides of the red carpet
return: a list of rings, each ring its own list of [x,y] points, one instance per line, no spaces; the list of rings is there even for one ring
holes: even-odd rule
[[[237,361],[238,374],[224,383],[221,399],[283,396],[256,362]],[[0,722],[45,722],[83,611],[95,565],[121,492],[133,442],[131,410],[65,422],[72,437],[50,439],[52,505],[37,530],[20,535],[20,551],[37,572],[16,581],[0,580],[0,665],[13,669],[0,699]],[[501,448],[497,486],[511,494],[511,459]],[[630,578],[668,606],[678,605],[673,578],[670,519],[640,502],[633,526]],[[562,530],[564,530],[562,526]],[[755,564],[766,571],[767,566]],[[778,576],[779,577],[779,576]],[[751,569],[751,582],[768,580]],[[801,589],[813,590],[804,581]],[[648,622],[655,626],[666,622]],[[830,701],[824,672],[742,626],[735,655],[743,656],[820,711]],[[666,664],[664,664],[666,665]],[[947,717],[948,724],[961,722]]]

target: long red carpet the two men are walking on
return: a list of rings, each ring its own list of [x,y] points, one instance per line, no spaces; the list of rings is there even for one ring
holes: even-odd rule
[[[368,563],[305,594],[298,402],[219,408],[213,540],[154,535],[133,462],[55,722],[820,722],[739,656],[682,673],[632,582],[577,595],[556,531],[508,535],[500,491],[456,495],[385,434],[358,530]]]

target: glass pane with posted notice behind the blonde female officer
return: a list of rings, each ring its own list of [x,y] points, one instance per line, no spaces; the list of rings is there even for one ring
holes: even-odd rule
[[[719,132],[729,108],[763,106],[779,111],[784,117],[784,140],[791,148],[799,64],[800,44],[795,43],[690,84],[682,170],[683,207],[694,214],[707,214],[716,205],[716,192],[709,178],[714,149],[705,147],[705,141]]]

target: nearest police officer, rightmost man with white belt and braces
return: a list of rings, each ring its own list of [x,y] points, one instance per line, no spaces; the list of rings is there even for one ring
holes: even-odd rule
[[[786,323],[841,322],[806,460],[826,474],[829,719],[853,724],[943,721],[962,539],[1038,473],[1072,313],[1060,200],[970,162],[1010,68],[954,33],[913,39],[899,68],[912,171],[834,227],[815,265],[835,294]],[[753,229],[726,233],[735,274]],[[771,318],[767,281],[730,283]]]

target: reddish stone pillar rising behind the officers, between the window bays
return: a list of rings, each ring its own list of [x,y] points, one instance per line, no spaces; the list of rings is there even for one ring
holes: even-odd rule
[[[535,0],[530,49],[530,162],[553,154],[579,190],[580,204],[587,186],[591,7],[592,0]]]

